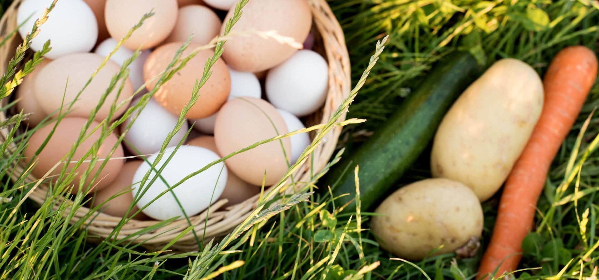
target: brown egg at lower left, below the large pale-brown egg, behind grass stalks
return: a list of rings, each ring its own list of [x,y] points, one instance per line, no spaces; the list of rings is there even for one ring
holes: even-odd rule
[[[44,175],[48,171],[50,171],[52,167],[54,167],[54,165],[63,160],[63,157],[71,151],[72,145],[75,143],[75,141],[77,141],[81,128],[83,128],[86,122],[87,119],[84,118],[62,119],[58,127],[56,127],[56,131],[53,134],[52,138],[50,138],[50,141],[48,141],[46,147],[44,147],[40,155],[38,155],[37,157],[38,164],[35,165],[32,171],[32,174],[34,174],[35,177],[37,177],[38,179],[44,177]],[[87,130],[87,134],[89,134],[89,131],[92,131],[93,128],[95,128],[98,125],[98,122],[93,122],[90,125],[90,128]],[[46,127],[40,128],[40,130],[35,131],[35,133],[31,136],[31,139],[29,139],[29,146],[25,149],[26,160],[29,160],[34,156],[35,151],[37,151],[37,149],[39,149],[39,147],[41,147],[41,145],[44,143],[44,141],[52,131],[52,128],[53,125],[47,125]],[[81,143],[77,147],[77,150],[75,150],[75,153],[72,157],[72,161],[80,160],[87,153],[87,151],[91,149],[93,143],[95,143],[95,141],[99,139],[100,134],[101,131],[96,130],[89,137],[87,137],[87,139],[84,140],[83,143]],[[102,143],[102,145],[98,149],[98,159],[105,159],[112,147],[114,146],[114,144],[117,143],[117,141],[118,138],[115,134],[111,134],[110,136],[108,136],[104,140],[104,143]],[[111,156],[111,158],[114,159],[110,159],[110,161],[108,161],[104,169],[102,169],[102,171],[99,173],[98,179],[95,180],[92,186],[95,187],[97,190],[101,190],[104,189],[104,187],[109,186],[119,175],[119,171],[121,170],[121,168],[123,167],[123,163],[125,162],[123,159],[116,158],[122,157],[123,148],[119,145],[117,149],[114,151],[113,155]],[[90,159],[91,158],[87,158],[87,160]],[[78,175],[77,179],[75,179],[75,181],[73,182],[75,184],[75,187],[73,188],[72,193],[76,193],[78,191],[78,180],[81,178],[83,172],[87,170],[89,164],[89,162],[83,162],[83,164],[81,164],[80,167],[74,171],[78,173]],[[52,171],[52,173],[50,173],[50,176],[60,174],[63,165],[64,162],[61,163],[54,171]],[[70,163],[67,172],[73,172],[72,167],[74,167],[74,165],[74,163]],[[86,181],[85,187],[87,189],[89,189],[88,184],[91,183],[92,177],[96,174],[96,171],[99,170],[101,165],[101,161],[96,162],[96,165],[92,170],[92,173],[90,173],[90,176]]]

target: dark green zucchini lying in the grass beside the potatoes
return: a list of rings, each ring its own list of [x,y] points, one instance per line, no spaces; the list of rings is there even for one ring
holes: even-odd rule
[[[368,210],[379,202],[426,149],[453,101],[479,73],[470,53],[454,53],[440,61],[386,124],[326,175],[323,186],[331,186],[335,196],[350,194],[338,198],[335,204],[343,205],[355,198],[356,165],[361,208]],[[355,201],[346,210],[355,210]]]

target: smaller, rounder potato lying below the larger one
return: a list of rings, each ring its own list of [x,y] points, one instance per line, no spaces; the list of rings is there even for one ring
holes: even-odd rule
[[[409,260],[456,251],[483,230],[479,199],[464,184],[426,179],[394,192],[376,210],[372,231],[380,246]]]

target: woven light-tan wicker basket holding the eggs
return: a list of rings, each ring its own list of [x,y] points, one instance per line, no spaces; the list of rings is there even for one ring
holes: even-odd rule
[[[314,33],[316,33],[314,50],[322,54],[328,60],[329,64],[329,91],[325,106],[319,110],[319,112],[307,118],[308,125],[314,125],[328,121],[332,113],[340,105],[341,101],[343,101],[349,94],[350,64],[343,30],[337,19],[335,19],[331,8],[326,4],[326,0],[307,1],[310,3],[314,15],[313,29],[315,31]],[[17,27],[16,10],[19,7],[20,2],[22,2],[22,0],[14,1],[4,14],[4,17],[0,20],[0,35],[2,35],[2,39],[4,39],[5,36],[10,36],[11,32]],[[52,16],[52,14],[50,14],[50,16]],[[7,69],[8,61],[13,57],[16,47],[21,42],[22,39],[17,33],[11,38],[8,38],[7,44],[0,47],[0,71],[5,71]],[[8,101],[8,99],[2,100],[2,106],[6,106]],[[0,121],[6,118],[7,115],[5,115],[4,112],[0,113]],[[343,118],[345,118],[345,116],[343,116]],[[340,127],[331,131],[331,133],[325,137],[325,141],[323,141],[323,143],[315,150],[312,155],[313,158],[308,159],[305,162],[304,166],[294,174],[294,178],[299,179],[298,181],[308,181],[308,179],[310,179],[310,174],[308,172],[310,170],[310,162],[314,164],[314,173],[322,170],[335,150],[340,132]],[[7,133],[8,129],[0,131],[0,141],[4,141]],[[22,166],[15,164],[13,168],[16,171],[12,173],[14,176],[22,174]],[[26,182],[29,183],[34,180],[36,179],[30,176]],[[35,202],[41,203],[47,197],[47,191],[47,186],[41,184],[31,193],[29,198],[33,199]],[[223,236],[234,229],[241,223],[241,221],[246,219],[250,212],[255,209],[257,202],[258,196],[255,196],[241,204],[224,208],[223,205],[226,204],[226,200],[218,201],[211,205],[209,214],[207,211],[204,211],[197,216],[190,217],[190,221],[195,226],[196,232],[203,233],[204,227],[206,227],[206,239]],[[74,222],[75,219],[81,219],[88,211],[89,208],[79,208],[73,218],[74,220],[71,222]],[[207,223],[206,218],[208,218]],[[99,213],[93,220],[89,219],[85,221],[84,224],[86,224],[87,230],[89,230],[89,236],[99,236],[99,238],[95,237],[97,240],[106,238],[120,220],[121,218],[119,217]],[[125,224],[117,238],[123,238],[155,223],[156,221],[131,220],[129,223]],[[144,247],[150,250],[157,250],[172,241],[175,236],[179,235],[181,231],[188,226],[189,224],[186,220],[177,220],[161,229],[138,236],[134,242],[140,243],[143,241]],[[177,251],[197,251],[199,249],[192,232],[183,236],[183,238],[171,248]]]

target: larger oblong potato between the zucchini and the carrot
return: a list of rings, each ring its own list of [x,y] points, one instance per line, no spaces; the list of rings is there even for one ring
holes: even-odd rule
[[[510,174],[543,109],[543,83],[528,64],[502,59],[453,104],[435,135],[434,177],[461,181],[480,201]]]

